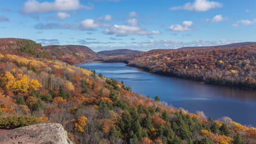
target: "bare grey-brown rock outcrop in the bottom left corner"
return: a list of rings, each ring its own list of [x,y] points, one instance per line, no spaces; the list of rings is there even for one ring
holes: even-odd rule
[[[58,123],[40,123],[0,134],[0,144],[73,144]]]

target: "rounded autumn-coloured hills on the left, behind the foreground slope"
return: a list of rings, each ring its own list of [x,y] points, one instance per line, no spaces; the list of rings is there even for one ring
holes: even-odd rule
[[[48,45],[42,46],[28,39],[0,39],[1,53],[12,53],[25,57],[57,59],[69,64],[92,61],[99,54],[82,45]]]

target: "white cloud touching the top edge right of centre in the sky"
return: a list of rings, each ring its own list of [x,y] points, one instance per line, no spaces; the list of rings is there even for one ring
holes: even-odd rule
[[[189,10],[189,11],[207,11],[213,8],[220,8],[223,7],[222,3],[214,2],[214,1],[207,1],[207,0],[195,0],[193,3],[185,3],[183,6],[176,6],[170,8],[171,10]]]

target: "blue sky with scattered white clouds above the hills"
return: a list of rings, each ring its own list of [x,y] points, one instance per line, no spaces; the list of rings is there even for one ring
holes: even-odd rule
[[[96,52],[256,41],[256,1],[0,0],[0,38]]]

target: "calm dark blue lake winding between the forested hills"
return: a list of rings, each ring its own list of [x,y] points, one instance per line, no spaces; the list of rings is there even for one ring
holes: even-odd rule
[[[85,63],[78,65],[96,70],[108,78],[124,81],[133,92],[158,95],[162,101],[189,112],[205,112],[207,117],[228,116],[233,121],[256,127],[256,91],[149,74],[124,63]]]

